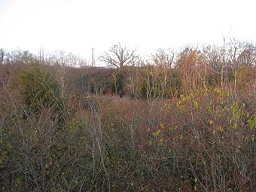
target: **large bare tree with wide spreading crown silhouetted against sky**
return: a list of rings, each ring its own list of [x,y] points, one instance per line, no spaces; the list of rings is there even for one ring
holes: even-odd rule
[[[113,45],[108,51],[105,51],[99,60],[105,62],[110,67],[120,68],[122,66],[134,65],[138,56],[135,50],[130,50],[120,43]]]

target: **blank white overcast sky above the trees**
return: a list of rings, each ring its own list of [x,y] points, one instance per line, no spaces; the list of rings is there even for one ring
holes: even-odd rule
[[[256,41],[255,0],[0,0],[0,48],[90,59],[120,42],[139,53]]]

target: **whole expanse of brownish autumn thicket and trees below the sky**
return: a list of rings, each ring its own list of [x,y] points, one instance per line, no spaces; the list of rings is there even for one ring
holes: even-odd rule
[[[256,189],[253,44],[102,58],[0,50],[0,190]]]

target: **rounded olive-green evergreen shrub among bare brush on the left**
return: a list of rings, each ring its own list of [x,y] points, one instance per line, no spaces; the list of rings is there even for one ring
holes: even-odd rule
[[[30,114],[38,114],[42,108],[59,110],[58,85],[50,72],[43,72],[38,64],[20,72],[17,87]]]

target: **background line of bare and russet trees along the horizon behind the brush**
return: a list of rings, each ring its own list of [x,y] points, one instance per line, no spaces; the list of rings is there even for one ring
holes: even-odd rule
[[[256,47],[233,39],[220,47],[203,46],[201,49],[187,47],[180,53],[169,49],[159,49],[147,58],[141,58],[136,50],[122,44],[115,44],[99,56],[107,68],[90,68],[84,59],[72,53],[46,54],[40,50],[38,55],[29,51],[1,50],[2,80],[8,77],[3,70],[8,66],[40,63],[52,66],[62,89],[64,77],[67,81],[79,81],[75,87],[86,87],[88,93],[118,94],[150,99],[169,98],[190,90],[210,87],[230,87],[235,92],[255,90]],[[72,68],[80,68],[81,75],[71,77]],[[15,69],[14,69],[15,70]],[[78,70],[76,70],[78,71]],[[69,80],[68,80],[69,79]]]

